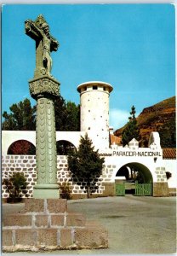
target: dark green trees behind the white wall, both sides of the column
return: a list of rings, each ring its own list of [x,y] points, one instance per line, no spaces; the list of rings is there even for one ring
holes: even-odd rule
[[[31,107],[31,102],[13,104],[10,113],[3,112],[2,130],[6,131],[35,131],[36,130],[36,106]],[[54,113],[56,131],[79,131],[80,106],[73,102],[67,102],[62,96],[54,98]]]

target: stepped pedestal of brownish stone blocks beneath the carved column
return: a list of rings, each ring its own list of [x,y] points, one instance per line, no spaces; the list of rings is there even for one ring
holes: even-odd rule
[[[25,210],[3,220],[3,252],[107,248],[107,231],[65,199],[26,199]]]

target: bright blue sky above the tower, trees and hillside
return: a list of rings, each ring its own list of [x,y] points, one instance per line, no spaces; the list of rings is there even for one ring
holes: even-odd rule
[[[60,42],[52,73],[66,101],[79,103],[78,84],[111,84],[110,125],[117,129],[132,105],[140,113],[175,95],[174,5],[12,4],[2,13],[2,112],[31,99],[35,42],[26,36],[24,21],[39,14]]]

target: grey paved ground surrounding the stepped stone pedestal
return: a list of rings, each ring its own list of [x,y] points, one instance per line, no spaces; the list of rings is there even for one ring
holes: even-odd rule
[[[3,216],[18,212],[24,204],[3,204]],[[83,212],[109,232],[109,248],[46,253],[3,253],[16,255],[107,255],[176,253],[176,198],[126,195],[68,201],[68,210]]]

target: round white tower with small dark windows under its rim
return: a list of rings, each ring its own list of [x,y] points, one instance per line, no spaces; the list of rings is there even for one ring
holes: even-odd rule
[[[88,133],[95,149],[109,148],[109,96],[111,84],[86,82],[77,87],[80,92],[81,131]]]

